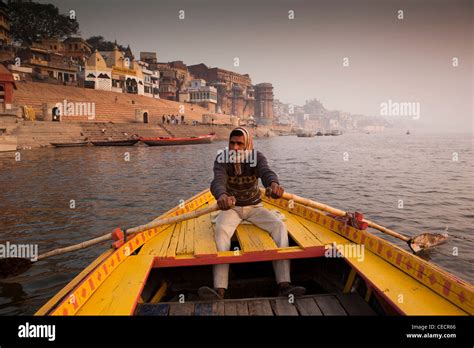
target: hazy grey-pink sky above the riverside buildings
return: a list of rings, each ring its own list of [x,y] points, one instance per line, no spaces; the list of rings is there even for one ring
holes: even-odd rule
[[[329,109],[379,115],[389,99],[417,102],[423,128],[474,130],[469,0],[42,2],[75,10],[84,38],[117,39],[136,57],[155,51],[160,61],[249,73],[287,103],[316,97]]]

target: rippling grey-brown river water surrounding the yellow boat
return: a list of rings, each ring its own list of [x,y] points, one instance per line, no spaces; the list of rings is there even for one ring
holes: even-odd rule
[[[207,188],[225,146],[38,149],[21,151],[19,161],[3,154],[0,243],[37,243],[41,253],[148,222]],[[256,139],[255,147],[289,192],[362,211],[408,236],[447,230],[448,243],[425,257],[474,282],[472,134],[283,136]],[[40,261],[0,281],[0,314],[33,314],[104,248]]]

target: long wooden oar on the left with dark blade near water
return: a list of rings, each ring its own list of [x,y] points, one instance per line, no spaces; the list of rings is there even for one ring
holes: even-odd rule
[[[129,228],[126,230],[127,234],[132,234],[132,233],[138,233],[142,232],[145,230],[148,230],[150,228],[154,227],[159,227],[163,225],[171,225],[177,222],[193,219],[196,217],[199,217],[201,215],[209,214],[212,213],[213,211],[219,210],[219,207],[217,206],[217,203],[210,205],[207,208],[203,209],[198,209],[194,210],[190,213],[178,215],[178,216],[172,216],[169,218],[164,218],[164,219],[155,219],[150,223],[140,225],[137,227]],[[13,277],[16,275],[19,275],[26,270],[28,270],[31,265],[39,260],[43,260],[47,257],[51,256],[56,256],[56,255],[61,255],[65,254],[71,251],[76,251],[80,249],[87,248],[91,245],[95,245],[101,242],[105,242],[107,240],[114,239],[114,232],[104,234],[103,236],[90,239],[87,241],[84,241],[82,243],[74,244],[68,247],[64,248],[59,248],[59,249],[54,249],[51,251],[48,251],[44,254],[40,254],[35,261],[32,261],[30,259],[25,259],[21,257],[7,257],[7,258],[0,258],[0,279],[7,278],[7,277]]]

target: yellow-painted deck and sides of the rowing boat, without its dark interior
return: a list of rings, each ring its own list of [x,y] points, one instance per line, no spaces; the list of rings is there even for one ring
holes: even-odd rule
[[[339,222],[325,213],[288,201],[263,196],[264,205],[277,210],[296,247],[278,248],[268,233],[253,225],[240,225],[239,252],[217,252],[211,216],[146,230],[129,236],[118,249],[98,259],[49,300],[36,315],[133,315],[150,271],[170,265],[206,265],[322,256],[336,243],[363,245],[364,259],[346,253],[344,260],[394,312],[404,315],[472,315],[474,288],[447,271],[390,242]],[[170,217],[214,203],[205,190],[161,217]],[[344,253],[344,251],[343,251]],[[353,279],[353,277],[352,277]],[[348,282],[350,287],[350,282]],[[345,289],[346,291],[348,289]],[[159,291],[163,292],[164,289]],[[370,296],[368,291],[367,296]],[[155,295],[158,301],[161,295]]]

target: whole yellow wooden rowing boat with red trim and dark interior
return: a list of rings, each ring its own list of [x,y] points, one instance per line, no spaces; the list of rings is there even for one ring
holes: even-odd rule
[[[268,233],[241,224],[232,250],[217,252],[212,214],[152,228],[106,250],[36,315],[473,314],[472,284],[322,211],[263,191],[262,199],[285,221],[289,247],[278,248]],[[205,190],[162,217],[213,203]],[[275,296],[269,261],[278,259],[292,260],[292,280],[305,285],[307,295]],[[212,284],[211,265],[218,263],[232,264],[229,298],[199,301],[197,288]]]

